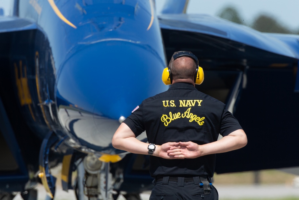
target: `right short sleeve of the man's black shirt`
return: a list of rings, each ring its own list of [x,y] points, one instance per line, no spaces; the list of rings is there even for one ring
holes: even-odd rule
[[[233,114],[231,114],[231,112],[224,109],[221,118],[220,135],[227,136],[228,134],[239,129],[242,129],[242,127],[239,124],[238,120],[234,117]]]

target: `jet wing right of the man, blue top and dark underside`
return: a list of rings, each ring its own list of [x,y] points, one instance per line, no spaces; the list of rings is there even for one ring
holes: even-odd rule
[[[208,15],[158,18],[168,61],[178,50],[195,53],[205,72],[196,88],[224,102],[248,136],[245,148],[217,154],[216,172],[299,166],[290,153],[298,152],[299,140],[299,36],[261,33]]]

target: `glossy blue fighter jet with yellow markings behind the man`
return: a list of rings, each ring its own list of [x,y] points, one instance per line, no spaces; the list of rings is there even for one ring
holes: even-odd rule
[[[167,90],[162,71],[179,50],[197,55],[196,88],[226,103],[248,136],[217,155],[217,173],[299,166],[299,36],[186,14],[187,3],[166,1],[157,16],[153,0],[12,0],[0,16],[0,199],[35,200],[39,182],[53,199],[57,165],[78,199],[140,199],[152,188],[148,156],[111,139]]]

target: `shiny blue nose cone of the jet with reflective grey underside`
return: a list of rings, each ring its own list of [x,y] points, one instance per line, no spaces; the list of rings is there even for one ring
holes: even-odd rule
[[[59,73],[57,107],[58,110],[72,107],[81,115],[88,113],[85,122],[89,121],[89,127],[93,124],[94,129],[92,133],[72,130],[68,123],[68,134],[85,141],[85,145],[103,147],[103,143],[96,142],[99,140],[111,144],[120,117],[130,115],[145,98],[167,90],[161,81],[164,63],[164,55],[132,41],[109,40],[81,47]],[[63,114],[67,115],[70,113]],[[60,118],[64,125],[71,120],[66,118]],[[83,116],[79,118],[82,123]],[[78,120],[73,122],[72,127],[79,124]],[[88,141],[87,135],[90,135]],[[97,147],[93,149],[98,150]]]

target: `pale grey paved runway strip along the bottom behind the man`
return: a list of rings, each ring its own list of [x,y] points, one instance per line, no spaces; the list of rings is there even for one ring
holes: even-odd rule
[[[264,198],[285,198],[285,197],[295,197],[299,200],[299,188],[286,185],[215,185],[219,193],[219,200],[221,199],[242,199],[242,198],[252,198],[252,199],[264,199]],[[38,200],[45,199],[45,190],[42,185],[38,186]],[[143,200],[148,200],[150,191],[142,193],[141,198]],[[55,195],[55,200],[73,200],[76,199],[73,190],[68,192],[57,190]],[[14,200],[22,200],[22,198],[17,195]],[[125,200],[122,196],[118,200]]]

